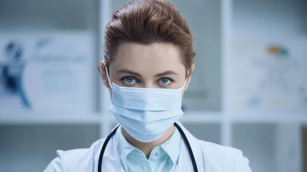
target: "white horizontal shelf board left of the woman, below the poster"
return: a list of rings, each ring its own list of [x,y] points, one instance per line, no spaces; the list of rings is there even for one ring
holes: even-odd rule
[[[100,124],[99,114],[19,113],[0,115],[0,125]]]

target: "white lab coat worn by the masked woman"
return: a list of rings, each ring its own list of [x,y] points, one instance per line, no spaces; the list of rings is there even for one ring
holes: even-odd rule
[[[249,161],[242,152],[227,146],[196,139],[180,122],[177,124],[185,133],[194,157],[198,171],[205,172],[252,172]],[[55,158],[43,172],[97,172],[98,158],[105,138],[94,142],[88,149],[57,151]],[[115,137],[107,143],[101,171],[124,172],[117,150]],[[181,152],[175,171],[193,171],[193,166],[182,140]]]

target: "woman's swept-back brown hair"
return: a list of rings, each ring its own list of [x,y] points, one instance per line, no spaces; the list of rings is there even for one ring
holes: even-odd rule
[[[189,69],[195,56],[192,41],[187,22],[167,0],[133,0],[115,11],[106,25],[105,65],[113,61],[121,42],[171,43],[179,48],[182,63]],[[102,63],[100,67],[104,69]]]

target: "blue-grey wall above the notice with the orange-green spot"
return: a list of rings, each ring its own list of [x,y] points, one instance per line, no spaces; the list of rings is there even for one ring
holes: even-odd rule
[[[235,0],[233,31],[240,34],[307,34],[304,0]]]

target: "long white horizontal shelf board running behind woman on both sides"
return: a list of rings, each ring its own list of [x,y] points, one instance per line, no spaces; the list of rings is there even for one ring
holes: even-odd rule
[[[58,113],[59,114],[59,113]],[[227,116],[227,117],[226,117]],[[220,124],[228,120],[234,124],[283,124],[298,123],[307,125],[307,114],[223,114],[218,112],[186,112],[180,121],[183,124]],[[103,124],[117,123],[109,113],[14,113],[0,115],[0,125],[60,125],[60,124]]]

